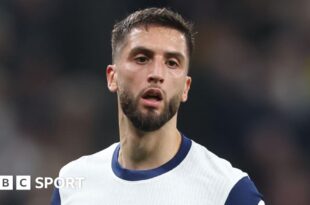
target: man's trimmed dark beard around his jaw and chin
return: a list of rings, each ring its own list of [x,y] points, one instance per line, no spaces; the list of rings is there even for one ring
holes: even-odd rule
[[[168,101],[164,93],[164,108],[161,113],[158,114],[153,109],[148,109],[146,113],[142,113],[138,108],[142,93],[143,90],[136,98],[132,92],[126,89],[119,93],[120,105],[124,114],[132,122],[134,127],[141,131],[151,132],[158,130],[176,114],[180,107],[181,94],[174,95]]]

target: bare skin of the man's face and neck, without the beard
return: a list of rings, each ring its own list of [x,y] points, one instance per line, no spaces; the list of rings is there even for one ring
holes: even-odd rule
[[[167,27],[137,27],[117,48],[113,65],[106,69],[108,88],[118,96],[120,152],[123,168],[146,170],[161,166],[175,156],[181,136],[177,129],[177,113],[154,131],[137,129],[124,114],[120,93],[125,89],[137,99],[143,115],[160,115],[174,96],[185,102],[191,85],[187,75],[189,56],[185,36]],[[139,94],[148,87],[163,94],[160,102],[144,101]]]

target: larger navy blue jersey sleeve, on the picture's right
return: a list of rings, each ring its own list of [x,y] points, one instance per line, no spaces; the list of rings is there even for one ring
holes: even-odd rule
[[[231,189],[225,205],[264,205],[262,195],[254,183],[246,176],[240,179]]]

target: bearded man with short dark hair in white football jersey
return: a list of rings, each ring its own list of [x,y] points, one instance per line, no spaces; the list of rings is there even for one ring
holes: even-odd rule
[[[60,177],[84,177],[83,186],[55,189],[53,204],[264,203],[246,173],[177,129],[193,45],[191,25],[165,8],[114,26],[106,74],[117,93],[120,142],[64,166]]]

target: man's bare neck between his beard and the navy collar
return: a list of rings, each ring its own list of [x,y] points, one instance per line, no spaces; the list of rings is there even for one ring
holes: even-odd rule
[[[181,135],[176,128],[175,115],[160,129],[143,132],[136,129],[129,119],[121,113],[120,152],[118,161],[123,168],[147,170],[163,165],[172,159],[181,144]]]

